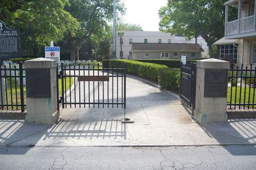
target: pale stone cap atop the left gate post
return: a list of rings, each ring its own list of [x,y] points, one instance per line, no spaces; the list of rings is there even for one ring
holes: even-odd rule
[[[25,68],[53,68],[57,67],[57,61],[47,58],[36,58],[25,61]]]

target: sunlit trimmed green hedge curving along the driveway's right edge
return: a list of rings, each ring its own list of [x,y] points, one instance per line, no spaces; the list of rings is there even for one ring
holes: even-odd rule
[[[134,60],[105,60],[102,61],[102,65],[107,66],[109,64],[110,68],[116,68],[122,67],[124,62],[126,62],[127,74],[158,83],[161,88],[166,90],[179,89],[180,69],[178,68],[168,68],[166,65],[143,63]]]

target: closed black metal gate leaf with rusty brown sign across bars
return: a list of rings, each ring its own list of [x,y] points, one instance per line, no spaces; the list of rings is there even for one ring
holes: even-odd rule
[[[100,68],[99,64],[68,66],[61,63],[61,96],[59,103],[67,107],[126,108],[126,66]],[[57,89],[58,90],[58,89]]]

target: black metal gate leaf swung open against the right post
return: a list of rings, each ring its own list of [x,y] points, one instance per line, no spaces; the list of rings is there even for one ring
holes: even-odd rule
[[[197,63],[189,63],[180,67],[180,98],[191,107],[192,114],[196,106]]]

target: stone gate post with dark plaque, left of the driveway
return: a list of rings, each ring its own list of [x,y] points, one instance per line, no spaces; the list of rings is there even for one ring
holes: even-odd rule
[[[25,61],[28,122],[53,125],[58,121],[57,62],[37,58]]]

